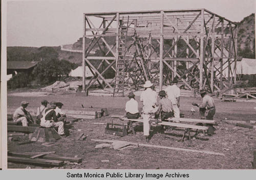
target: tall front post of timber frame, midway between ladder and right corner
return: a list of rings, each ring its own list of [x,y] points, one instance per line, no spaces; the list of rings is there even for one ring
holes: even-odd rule
[[[160,21],[160,62],[159,62],[159,88],[162,90],[163,86],[163,11],[161,11]]]

